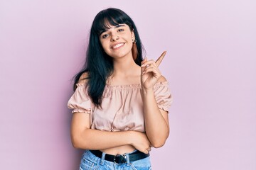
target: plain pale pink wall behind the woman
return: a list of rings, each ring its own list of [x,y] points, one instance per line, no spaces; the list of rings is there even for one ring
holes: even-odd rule
[[[78,169],[66,107],[96,13],[122,8],[174,103],[154,169],[256,169],[256,2],[0,1],[0,169]]]

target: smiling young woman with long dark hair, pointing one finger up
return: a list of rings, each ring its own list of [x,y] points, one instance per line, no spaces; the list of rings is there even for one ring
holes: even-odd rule
[[[169,136],[169,84],[159,60],[142,59],[132,19],[117,8],[95,16],[85,67],[75,76],[71,140],[80,169],[151,169],[151,147]]]

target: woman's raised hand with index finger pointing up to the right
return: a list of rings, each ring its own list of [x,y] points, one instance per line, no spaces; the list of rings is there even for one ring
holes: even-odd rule
[[[161,61],[164,59],[166,55],[166,51],[164,51],[161,56],[154,62],[154,60],[143,60],[141,66],[141,81],[142,81],[142,88],[144,89],[151,89],[156,84],[156,82],[161,77],[161,72],[159,70],[159,65]]]

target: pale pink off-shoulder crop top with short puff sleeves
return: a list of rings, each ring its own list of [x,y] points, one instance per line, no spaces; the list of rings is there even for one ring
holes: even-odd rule
[[[102,108],[94,106],[85,84],[76,85],[77,89],[68,101],[68,108],[73,109],[72,113],[89,113],[92,129],[145,132],[140,84],[107,84],[102,94]],[[154,96],[158,107],[169,112],[172,98],[168,81],[154,85]]]

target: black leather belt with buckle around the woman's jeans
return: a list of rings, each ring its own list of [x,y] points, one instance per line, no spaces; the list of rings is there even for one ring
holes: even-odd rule
[[[102,158],[102,152],[100,150],[90,150],[90,152],[92,152],[92,154],[94,154],[96,157]],[[129,157],[130,162],[134,162],[139,159],[149,157],[149,153],[144,154],[143,152],[136,151],[132,154],[105,154],[105,160],[109,162],[114,162],[115,164],[127,163],[127,157]]]

